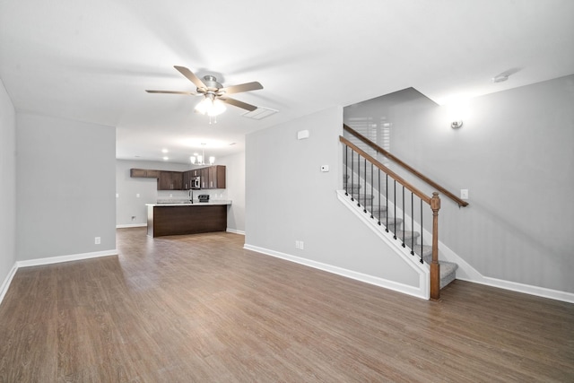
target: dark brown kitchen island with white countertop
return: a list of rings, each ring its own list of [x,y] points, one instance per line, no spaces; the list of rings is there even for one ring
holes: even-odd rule
[[[197,234],[226,231],[231,201],[168,203],[147,205],[147,235]]]

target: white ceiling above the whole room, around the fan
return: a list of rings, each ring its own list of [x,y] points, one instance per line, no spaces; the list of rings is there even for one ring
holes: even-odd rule
[[[144,91],[195,91],[173,65],[258,81],[234,98],[279,112],[229,107],[209,125],[199,98]],[[568,74],[571,0],[0,0],[15,109],[115,126],[119,159],[228,155],[249,132],[408,87],[443,103]]]

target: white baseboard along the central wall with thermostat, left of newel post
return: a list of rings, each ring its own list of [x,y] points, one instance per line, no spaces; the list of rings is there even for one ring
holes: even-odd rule
[[[394,281],[388,281],[387,279],[378,278],[376,276],[358,273],[352,270],[344,269],[342,267],[334,266],[334,265],[327,265],[320,262],[312,261],[307,258],[295,257],[289,254],[281,253],[279,251],[270,250],[267,248],[259,248],[257,246],[252,246],[245,244],[243,248],[251,251],[256,251],[257,253],[265,254],[266,256],[277,257],[287,261],[291,261],[300,265],[306,265],[309,267],[316,268],[318,270],[323,270],[328,273],[337,274],[344,276],[346,278],[351,278],[357,281],[361,281],[364,283],[374,284],[379,287],[384,287],[386,289],[395,291],[395,292],[403,292],[404,294],[411,295],[416,298],[422,298],[424,300],[428,300],[427,292],[424,292],[423,289],[420,289],[415,286],[409,286],[404,283],[396,283]]]

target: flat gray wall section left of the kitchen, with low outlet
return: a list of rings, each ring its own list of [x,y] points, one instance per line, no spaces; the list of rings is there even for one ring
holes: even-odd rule
[[[25,113],[16,122],[18,260],[115,249],[116,130]]]

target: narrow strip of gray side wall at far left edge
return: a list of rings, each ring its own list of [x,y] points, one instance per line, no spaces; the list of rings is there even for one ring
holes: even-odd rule
[[[16,263],[15,152],[16,113],[0,81],[0,287]]]

